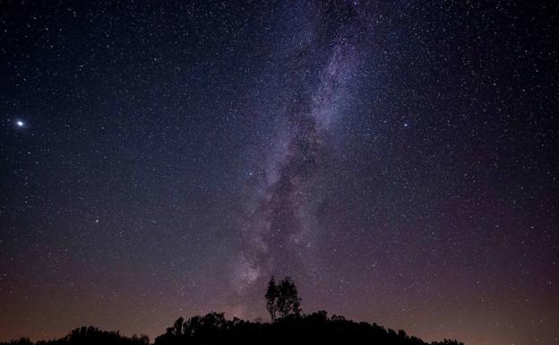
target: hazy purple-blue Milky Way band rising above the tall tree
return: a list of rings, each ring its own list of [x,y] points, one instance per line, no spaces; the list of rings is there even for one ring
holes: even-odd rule
[[[241,294],[256,280],[268,280],[272,274],[317,273],[313,253],[321,229],[316,208],[321,190],[327,187],[321,180],[325,156],[331,149],[327,133],[342,116],[340,100],[355,73],[356,47],[348,37],[352,31],[341,25],[328,28],[329,39],[320,42],[324,34],[319,31],[324,28],[321,18],[328,18],[327,10],[332,8],[302,7],[310,12],[305,16],[315,19],[306,34],[312,38],[291,42],[299,47],[287,57],[289,94],[281,109],[280,130],[273,135],[271,151],[262,154],[262,181],[242,224],[245,247],[233,271]],[[357,20],[351,5],[344,9],[346,19]]]

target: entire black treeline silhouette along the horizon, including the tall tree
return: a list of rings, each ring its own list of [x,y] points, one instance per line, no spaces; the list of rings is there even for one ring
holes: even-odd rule
[[[271,323],[250,322],[237,317],[228,320],[223,313],[179,317],[159,335],[154,345],[188,344],[369,344],[369,345],[429,345],[426,341],[395,332],[376,323],[357,323],[343,316],[328,316],[325,311],[304,315],[293,280],[286,277],[278,284],[272,277],[266,291],[266,309]],[[0,343],[0,345],[148,345],[145,336],[126,337],[118,332],[100,331],[96,327],[81,327],[65,337],[33,343],[29,339]],[[433,341],[430,345],[464,345],[460,341]]]

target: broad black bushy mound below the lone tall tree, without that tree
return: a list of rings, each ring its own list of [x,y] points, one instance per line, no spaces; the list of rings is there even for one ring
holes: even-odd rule
[[[181,320],[179,318],[179,320]],[[173,327],[155,339],[155,345],[179,344],[383,344],[428,345],[404,331],[394,332],[376,323],[356,323],[325,311],[311,315],[288,315],[273,323],[227,320],[222,313],[193,316],[177,335]],[[431,345],[463,345],[444,340]]]

